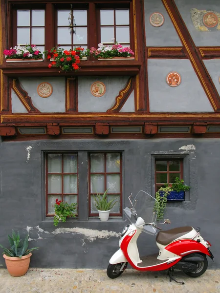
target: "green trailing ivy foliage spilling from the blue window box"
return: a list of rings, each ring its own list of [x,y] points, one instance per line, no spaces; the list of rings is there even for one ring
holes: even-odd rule
[[[175,183],[165,183],[165,187],[159,188],[159,190],[155,193],[155,198],[158,202],[158,212],[156,220],[160,221],[163,219],[164,211],[167,207],[167,196],[170,194],[170,191],[185,191],[189,189],[190,186],[184,185],[183,179],[179,180],[178,177],[176,177]],[[155,201],[154,211],[157,211],[157,202]]]

